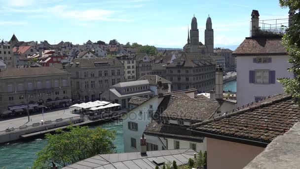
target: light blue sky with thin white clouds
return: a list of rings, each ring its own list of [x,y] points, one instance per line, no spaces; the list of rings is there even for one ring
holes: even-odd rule
[[[252,9],[260,19],[287,18],[278,0],[0,0],[0,39],[9,41],[138,42],[182,48],[193,14],[200,41],[208,15],[215,46],[238,45],[249,36]]]

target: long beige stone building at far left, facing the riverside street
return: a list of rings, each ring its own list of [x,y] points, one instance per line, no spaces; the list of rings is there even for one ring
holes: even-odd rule
[[[70,103],[70,73],[55,67],[7,68],[0,72],[0,114]]]

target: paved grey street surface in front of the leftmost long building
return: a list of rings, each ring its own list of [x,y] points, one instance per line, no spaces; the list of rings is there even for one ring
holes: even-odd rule
[[[66,118],[79,116],[78,114],[72,114],[70,112],[74,109],[75,108],[66,109],[65,113],[64,113],[64,110],[58,110],[58,111],[44,113],[44,121],[49,121],[49,120],[53,121],[53,120],[60,119],[60,118],[66,119]],[[40,121],[43,119],[42,114],[33,115],[33,116],[30,116],[30,118],[32,119],[31,122],[28,122],[28,116],[22,117],[22,118],[17,118],[17,119],[1,121],[0,122],[0,131],[5,130],[8,127],[18,128],[23,125],[30,126],[34,123],[40,123]]]

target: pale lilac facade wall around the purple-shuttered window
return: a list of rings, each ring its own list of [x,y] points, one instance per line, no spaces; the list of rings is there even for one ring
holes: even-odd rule
[[[253,63],[253,58],[260,56],[237,56],[237,106],[255,101],[255,97],[269,96],[283,93],[283,85],[275,84],[251,84],[249,83],[249,71],[256,69],[266,69],[275,71],[275,78],[293,78],[292,72],[287,69],[289,56],[267,56],[271,57],[271,63]]]

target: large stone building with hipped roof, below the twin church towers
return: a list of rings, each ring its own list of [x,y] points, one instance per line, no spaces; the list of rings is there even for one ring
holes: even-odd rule
[[[197,88],[209,91],[215,86],[215,64],[200,53],[182,52],[166,66],[166,79],[171,81],[171,91]]]

